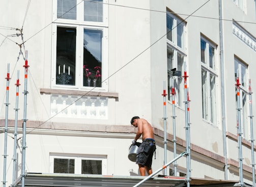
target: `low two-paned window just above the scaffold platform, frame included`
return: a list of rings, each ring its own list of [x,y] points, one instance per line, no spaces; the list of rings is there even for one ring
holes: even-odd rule
[[[50,156],[51,173],[106,174],[106,157]]]

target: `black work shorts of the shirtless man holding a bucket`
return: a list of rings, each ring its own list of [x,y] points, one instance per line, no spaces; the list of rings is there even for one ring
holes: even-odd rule
[[[147,166],[148,168],[151,168],[152,158],[155,150],[155,140],[151,138],[144,139],[138,148],[136,164],[140,164],[142,166]]]

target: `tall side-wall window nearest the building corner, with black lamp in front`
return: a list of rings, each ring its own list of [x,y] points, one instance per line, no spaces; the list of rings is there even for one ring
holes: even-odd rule
[[[167,37],[167,76],[168,76],[168,100],[172,100],[172,87],[175,88],[175,101],[179,107],[183,107],[184,101],[184,72],[185,61],[185,22],[166,13],[166,37]]]

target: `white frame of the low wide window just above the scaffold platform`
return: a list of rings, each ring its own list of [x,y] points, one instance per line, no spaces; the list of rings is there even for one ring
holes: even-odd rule
[[[53,173],[54,171],[54,159],[74,159],[75,160],[75,173],[81,174],[81,162],[82,160],[97,160],[102,163],[102,175],[107,174],[107,157],[106,155],[71,155],[71,154],[62,154],[62,153],[54,153],[50,154],[49,159],[49,173]]]

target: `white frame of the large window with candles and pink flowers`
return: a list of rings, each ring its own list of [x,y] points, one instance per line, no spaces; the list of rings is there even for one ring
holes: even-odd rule
[[[101,66],[101,87],[94,87],[94,90],[98,91],[108,91],[108,22],[107,22],[107,3],[108,0],[103,0],[103,21],[102,22],[89,22],[83,21],[83,2],[82,0],[77,0],[77,18],[72,19],[62,19],[57,18],[57,0],[53,0],[53,24],[52,24],[52,88],[58,89],[70,89],[70,90],[91,90],[93,87],[83,86],[83,29],[101,29],[102,30],[102,66]],[[57,45],[57,27],[71,27],[76,28],[76,62],[75,62],[75,85],[61,85],[56,84],[56,45]],[[79,68],[81,67],[81,68]],[[104,82],[103,82],[104,80]]]

